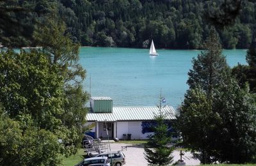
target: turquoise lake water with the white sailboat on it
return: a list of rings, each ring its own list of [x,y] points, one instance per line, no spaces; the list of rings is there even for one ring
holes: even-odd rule
[[[86,69],[84,88],[92,96],[109,96],[114,106],[155,106],[160,91],[166,103],[179,107],[188,89],[186,81],[192,57],[200,50],[157,50],[159,56],[148,55],[148,49],[81,47],[79,63]],[[246,64],[246,50],[223,50],[227,63]]]

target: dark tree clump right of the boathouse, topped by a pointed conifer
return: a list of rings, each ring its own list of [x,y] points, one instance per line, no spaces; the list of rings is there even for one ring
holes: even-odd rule
[[[205,44],[207,54],[193,59],[189,90],[177,115],[177,128],[182,132],[184,145],[195,152],[201,163],[253,162],[255,101],[248,87],[241,89],[230,76],[213,32]],[[243,80],[244,76],[240,78]]]

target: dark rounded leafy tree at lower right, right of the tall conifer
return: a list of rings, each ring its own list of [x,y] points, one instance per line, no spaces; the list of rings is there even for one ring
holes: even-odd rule
[[[214,112],[217,123],[215,145],[220,151],[218,161],[229,163],[255,163],[256,108],[255,98],[248,86],[241,89],[235,79],[223,83],[214,95]]]

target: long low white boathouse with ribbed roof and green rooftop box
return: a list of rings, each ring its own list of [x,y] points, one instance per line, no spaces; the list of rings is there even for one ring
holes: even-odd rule
[[[172,131],[172,120],[175,110],[171,106],[161,109],[166,122]],[[109,97],[92,97],[90,112],[86,114],[87,135],[100,139],[148,139],[154,134],[154,116],[159,114],[158,107],[113,107],[113,100]],[[108,130],[108,135],[107,135]]]

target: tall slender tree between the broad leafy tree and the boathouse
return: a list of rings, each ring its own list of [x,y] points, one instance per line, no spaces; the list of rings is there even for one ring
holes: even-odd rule
[[[68,133],[68,137],[65,137],[67,147],[71,150],[70,153],[75,153],[76,147],[70,146],[78,146],[81,142],[82,126],[87,111],[85,103],[89,98],[82,86],[86,71],[78,63],[79,44],[70,39],[70,34],[66,34],[65,24],[58,17],[55,19],[57,21],[48,20],[44,27],[39,27],[35,38],[42,45],[43,52],[47,53],[51,64],[61,69],[58,72],[63,77],[65,98],[61,120],[68,128],[68,131],[65,131]]]

